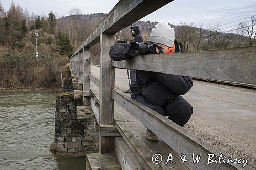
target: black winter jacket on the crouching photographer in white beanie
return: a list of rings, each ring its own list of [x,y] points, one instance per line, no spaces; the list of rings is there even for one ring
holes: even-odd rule
[[[175,52],[182,51],[182,45],[175,40]],[[128,51],[131,45],[126,44],[116,44],[110,47],[110,58],[114,61],[129,60],[133,56],[130,56]],[[156,54],[155,46],[148,51],[147,54]],[[136,82],[130,85],[131,97],[136,98],[142,95],[142,91],[145,87],[150,85],[155,80],[160,81],[165,85],[170,92],[181,95],[188,92],[188,90],[193,86],[193,81],[189,76],[179,76],[172,74],[163,74],[159,72],[136,70]],[[156,89],[157,90],[157,89]]]

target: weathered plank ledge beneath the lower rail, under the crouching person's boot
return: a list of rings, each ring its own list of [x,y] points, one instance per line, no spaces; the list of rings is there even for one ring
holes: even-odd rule
[[[121,107],[116,107],[118,111],[115,115],[125,118],[116,120],[116,126],[123,138],[125,138],[129,147],[139,159],[140,164],[145,169],[195,169],[189,164],[183,164],[179,160],[179,155],[163,141],[151,142],[146,139],[146,128],[138,120],[126,112]],[[116,117],[115,117],[116,118]],[[128,119],[128,120],[127,120]],[[154,154],[161,154],[163,161],[160,164],[152,162]],[[169,154],[172,153],[175,164],[166,164]]]

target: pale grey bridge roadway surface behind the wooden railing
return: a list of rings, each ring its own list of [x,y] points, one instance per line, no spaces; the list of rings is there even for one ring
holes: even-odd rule
[[[99,75],[99,67],[91,66]],[[127,89],[127,71],[116,69],[115,87]],[[184,95],[194,115],[184,128],[256,166],[256,90],[194,81]]]

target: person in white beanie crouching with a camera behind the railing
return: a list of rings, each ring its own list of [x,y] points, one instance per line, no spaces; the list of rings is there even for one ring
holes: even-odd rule
[[[174,28],[170,27],[167,23],[159,22],[155,25],[150,34],[150,41],[151,43],[149,44],[151,45],[147,45],[148,48],[146,52],[143,52],[144,54],[177,53],[183,50],[182,44],[178,43],[174,38]],[[133,44],[134,43],[116,44],[111,46],[109,53],[111,59],[121,61],[129,60],[136,56],[132,53],[132,49],[134,48]],[[133,99],[163,116],[168,116],[168,119],[181,127],[188,122],[193,114],[193,107],[181,95],[187,93],[193,86],[193,81],[189,76],[136,70],[136,79],[137,80],[130,85],[132,91],[131,97]],[[156,82],[160,82],[160,85],[167,88],[168,93],[172,94],[172,99],[169,99],[166,105],[157,106],[143,94],[143,91],[145,91],[147,87],[150,87],[150,85]],[[153,87],[152,91],[158,91],[158,89],[158,87],[155,87],[155,89]],[[146,138],[151,141],[158,141],[155,134],[148,129]]]

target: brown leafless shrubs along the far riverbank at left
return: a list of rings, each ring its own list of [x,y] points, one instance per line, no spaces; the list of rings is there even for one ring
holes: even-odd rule
[[[68,57],[4,50],[0,52],[0,86],[4,88],[60,88]]]

